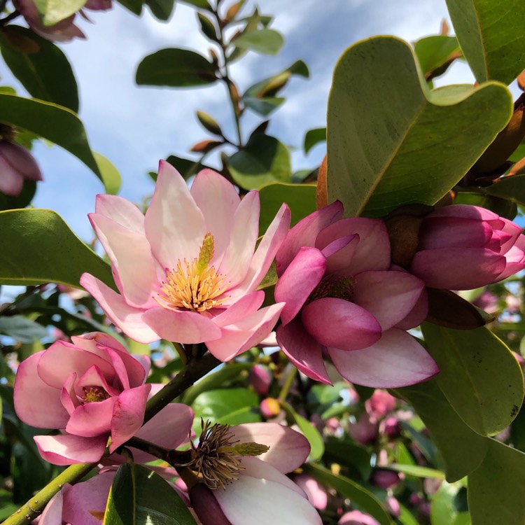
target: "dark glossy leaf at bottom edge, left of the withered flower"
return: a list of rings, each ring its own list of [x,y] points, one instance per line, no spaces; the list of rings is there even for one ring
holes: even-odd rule
[[[118,468],[109,491],[104,525],[196,525],[165,479],[141,465]]]

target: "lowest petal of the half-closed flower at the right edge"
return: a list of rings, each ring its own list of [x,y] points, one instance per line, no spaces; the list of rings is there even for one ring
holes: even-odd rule
[[[505,269],[505,257],[483,248],[419,251],[410,272],[430,288],[472,290],[492,283]]]

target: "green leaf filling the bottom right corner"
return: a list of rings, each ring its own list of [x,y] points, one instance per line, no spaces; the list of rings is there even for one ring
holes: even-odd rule
[[[468,508],[475,525],[525,523],[525,454],[489,441],[484,461],[468,477]]]

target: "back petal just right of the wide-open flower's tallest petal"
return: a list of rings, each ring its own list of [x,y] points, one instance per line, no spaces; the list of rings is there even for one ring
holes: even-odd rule
[[[218,267],[230,243],[235,211],[241,199],[232,184],[211,169],[203,169],[197,174],[190,193],[202,211],[206,230],[214,236],[215,250],[211,265]]]

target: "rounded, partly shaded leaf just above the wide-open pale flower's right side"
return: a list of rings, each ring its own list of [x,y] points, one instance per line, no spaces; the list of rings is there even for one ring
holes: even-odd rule
[[[289,182],[290,152],[275,137],[257,133],[230,157],[228,169],[234,181],[246,190],[258,190],[272,182]]]

